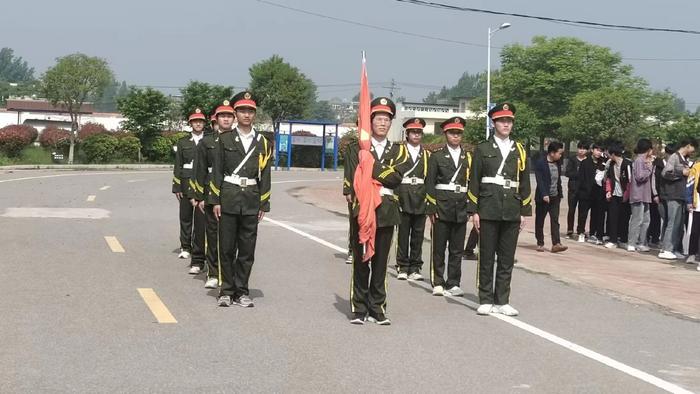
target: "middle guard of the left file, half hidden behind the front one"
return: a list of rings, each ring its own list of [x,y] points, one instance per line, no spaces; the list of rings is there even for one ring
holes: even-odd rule
[[[212,181],[214,158],[218,154],[216,148],[219,142],[219,133],[230,132],[233,128],[235,119],[233,107],[230,103],[219,105],[212,114],[212,119],[215,122],[212,126],[214,131],[205,134],[202,142],[197,145],[197,158],[195,159],[195,185],[197,186],[195,198],[198,201],[199,209],[204,211],[207,218],[207,281],[204,283],[204,287],[207,289],[219,287],[219,221],[214,216],[214,206],[207,203],[211,192],[209,184]]]

